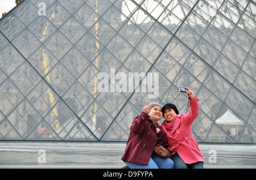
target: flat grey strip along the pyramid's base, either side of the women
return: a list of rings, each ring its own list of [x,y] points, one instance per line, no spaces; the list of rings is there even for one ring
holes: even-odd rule
[[[0,168],[122,169],[125,143],[0,142]],[[256,145],[199,144],[205,169],[256,169]]]

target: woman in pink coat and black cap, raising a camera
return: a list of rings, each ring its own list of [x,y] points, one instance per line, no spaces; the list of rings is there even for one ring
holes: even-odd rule
[[[191,89],[186,89],[189,96],[189,112],[179,114],[174,104],[167,103],[162,108],[164,121],[161,130],[166,132],[170,145],[168,150],[172,153],[175,169],[203,168],[204,158],[191,129],[191,124],[199,114],[199,99]]]

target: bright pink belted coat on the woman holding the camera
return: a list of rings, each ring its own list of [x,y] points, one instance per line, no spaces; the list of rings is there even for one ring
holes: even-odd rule
[[[167,128],[167,122],[164,120],[161,125],[161,130],[164,130],[167,135],[168,148],[172,153],[177,151],[180,158],[185,164],[193,164],[195,162],[204,162],[203,155],[199,149],[199,145],[195,138],[193,138],[193,132],[191,125],[199,114],[199,99],[196,97],[193,100],[189,100],[191,104],[189,112],[187,114],[177,114],[172,120],[174,121],[174,128],[170,132]],[[167,125],[167,126],[165,126]]]

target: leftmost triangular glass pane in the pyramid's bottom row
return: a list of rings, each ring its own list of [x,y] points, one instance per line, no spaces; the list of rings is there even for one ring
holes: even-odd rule
[[[3,119],[0,122],[0,140],[22,140],[18,132],[11,126],[10,122]]]

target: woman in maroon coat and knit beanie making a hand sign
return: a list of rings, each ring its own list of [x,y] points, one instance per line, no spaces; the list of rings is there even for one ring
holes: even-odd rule
[[[156,102],[145,104],[142,113],[133,120],[121,159],[131,169],[172,169],[171,158],[160,157],[154,152],[155,145],[169,147],[166,133],[158,124],[163,116],[162,106]]]

